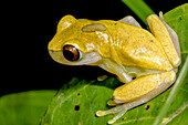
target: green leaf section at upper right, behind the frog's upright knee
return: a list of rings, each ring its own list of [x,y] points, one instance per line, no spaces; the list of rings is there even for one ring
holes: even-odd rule
[[[188,3],[167,12],[164,19],[178,34],[181,49],[181,62],[185,62],[188,55]],[[180,67],[181,66],[182,64]]]

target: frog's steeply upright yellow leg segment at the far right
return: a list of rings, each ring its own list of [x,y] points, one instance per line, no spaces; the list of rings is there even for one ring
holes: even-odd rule
[[[173,38],[170,37],[168,29],[156,14],[149,15],[147,18],[147,22],[155,38],[161,43],[170,63],[174,67],[177,67],[180,64],[180,56],[175,49],[171,40]]]

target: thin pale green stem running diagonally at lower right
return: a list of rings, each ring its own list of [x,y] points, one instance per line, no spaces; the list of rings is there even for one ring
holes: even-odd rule
[[[166,115],[168,107],[170,106],[174,97],[176,96],[176,93],[179,91],[181,84],[184,83],[184,80],[185,80],[187,73],[188,73],[188,56],[186,58],[186,61],[185,61],[184,66],[179,73],[179,76],[178,76],[171,92],[169,93],[169,96],[168,96],[164,107],[161,108],[160,113],[158,114],[154,125],[160,125],[161,119]]]

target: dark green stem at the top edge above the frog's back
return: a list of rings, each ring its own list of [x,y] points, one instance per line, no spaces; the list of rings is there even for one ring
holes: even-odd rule
[[[143,0],[122,0],[146,24],[146,18],[155,12]]]

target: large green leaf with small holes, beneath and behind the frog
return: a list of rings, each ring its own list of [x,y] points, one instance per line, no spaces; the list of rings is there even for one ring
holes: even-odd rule
[[[179,71],[181,71],[188,54],[186,42],[188,40],[186,37],[188,34],[187,7],[188,4],[184,4],[164,15],[166,22],[179,37],[182,58]],[[182,72],[185,77],[187,75],[186,71],[187,69]],[[173,87],[148,103],[128,111],[123,116],[124,118],[118,119],[114,125],[152,125],[156,121],[159,121],[158,123],[163,121],[163,124],[168,123],[169,125],[174,123],[182,125],[188,124],[188,119],[186,118],[188,115],[187,83],[188,79],[182,79],[181,84],[177,83],[177,85],[173,85]],[[107,106],[106,103],[108,100],[112,100],[114,88],[119,85],[121,83],[115,77],[109,77],[103,82],[87,82],[73,79],[53,97],[53,101],[42,118],[41,125],[106,125],[107,121],[111,119],[113,115],[97,117],[95,113],[100,110],[112,108]],[[164,107],[164,105],[167,106]],[[166,115],[163,116],[163,113]]]

